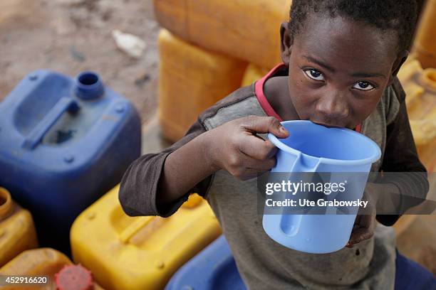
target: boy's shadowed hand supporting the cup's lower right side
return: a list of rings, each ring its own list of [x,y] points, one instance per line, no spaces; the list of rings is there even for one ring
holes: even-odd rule
[[[375,205],[377,198],[375,191],[377,191],[378,185],[375,183],[367,183],[365,188],[365,200],[368,200],[368,208],[363,210],[364,215],[357,215],[353,225],[353,231],[351,232],[350,240],[346,247],[353,247],[358,242],[370,239],[373,237],[375,230]]]

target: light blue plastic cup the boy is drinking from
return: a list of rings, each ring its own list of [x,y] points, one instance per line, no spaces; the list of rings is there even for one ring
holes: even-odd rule
[[[364,180],[355,183],[357,186],[351,194],[352,198],[362,198],[371,165],[381,156],[374,141],[350,129],[328,128],[310,121],[281,124],[290,135],[286,139],[268,135],[279,148],[276,166],[271,172],[328,172],[331,180],[340,180],[346,173],[359,173]],[[301,252],[329,253],[346,246],[356,214],[357,210],[345,215],[264,213],[263,226],[271,239],[285,247]]]

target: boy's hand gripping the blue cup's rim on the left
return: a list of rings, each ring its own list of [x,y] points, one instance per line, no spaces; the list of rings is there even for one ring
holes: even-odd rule
[[[274,117],[249,116],[235,119],[207,132],[208,154],[215,170],[224,169],[245,181],[276,165],[276,146],[258,133],[286,138],[289,132]]]

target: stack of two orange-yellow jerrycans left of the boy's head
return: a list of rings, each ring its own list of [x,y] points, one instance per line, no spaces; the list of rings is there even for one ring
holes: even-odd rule
[[[159,38],[159,121],[177,141],[204,109],[241,86],[248,63],[269,70],[280,62],[291,0],[153,2],[167,29]]]

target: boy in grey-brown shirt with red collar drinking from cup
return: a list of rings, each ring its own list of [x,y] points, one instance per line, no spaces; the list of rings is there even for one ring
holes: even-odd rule
[[[371,171],[425,172],[395,77],[408,56],[415,14],[410,0],[294,0],[291,21],[280,29],[283,64],[207,109],[169,149],[137,159],[121,183],[125,212],[166,217],[199,193],[249,289],[393,289],[395,237],[384,226],[373,237],[375,215],[356,220],[349,247],[331,254],[297,252],[266,235],[255,177],[274,166],[276,148],[257,134],[289,136],[279,121],[292,119],[347,127],[382,149]],[[427,180],[417,179],[405,175],[375,187],[401,194],[412,184],[425,197]],[[377,216],[384,225],[397,219]]]

